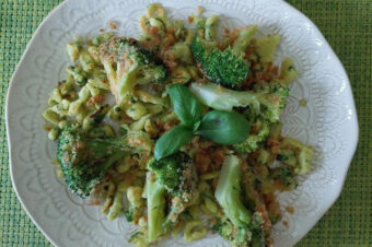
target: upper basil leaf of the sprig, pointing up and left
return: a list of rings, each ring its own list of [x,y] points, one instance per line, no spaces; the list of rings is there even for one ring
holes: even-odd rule
[[[188,127],[200,120],[202,106],[199,99],[182,84],[173,84],[168,90],[174,113]]]

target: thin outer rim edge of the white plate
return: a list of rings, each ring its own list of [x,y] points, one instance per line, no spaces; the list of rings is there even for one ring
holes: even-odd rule
[[[40,30],[43,28],[43,26],[51,19],[51,16],[54,16],[60,9],[62,9],[65,5],[67,5],[69,2],[72,2],[73,0],[65,0],[63,2],[59,3],[58,5],[56,5],[44,19],[43,21],[40,22],[40,24],[37,26],[37,28],[35,30],[35,32],[32,34],[32,37],[30,38],[22,56],[21,56],[21,59],[19,60],[19,62],[16,63],[16,67],[14,69],[14,72],[11,77],[11,80],[9,81],[9,85],[8,85],[8,91],[7,91],[7,98],[5,98],[5,113],[4,113],[4,116],[5,116],[5,129],[7,129],[7,141],[8,141],[8,152],[9,152],[9,174],[10,174],[10,177],[11,177],[11,181],[12,181],[12,188],[16,195],[16,198],[18,200],[20,201],[23,210],[26,212],[27,216],[32,220],[32,222],[34,223],[34,225],[38,228],[38,231],[54,245],[54,246],[58,246],[56,244],[56,242],[53,239],[53,237],[45,231],[45,228],[43,228],[37,220],[33,216],[32,213],[30,213],[28,211],[28,207],[26,205],[24,199],[20,196],[19,193],[19,189],[18,189],[18,185],[14,180],[14,166],[12,164],[12,140],[10,138],[11,133],[9,131],[9,113],[10,113],[10,105],[9,105],[9,99],[10,99],[10,95],[11,95],[11,91],[12,91],[12,87],[13,86],[13,81],[14,81],[14,78],[15,78],[15,74],[19,73],[20,71],[20,64],[23,62],[23,60],[25,59],[26,55],[30,52],[30,47],[31,45],[35,42],[35,36],[37,36],[40,32]],[[335,187],[334,190],[335,190],[335,197],[332,199],[332,203],[328,205],[328,207],[325,207],[322,211],[319,211],[321,213],[316,216],[316,221],[311,224],[311,227],[309,230],[309,232],[303,235],[301,238],[299,238],[295,243],[298,244],[301,239],[303,239],[303,237],[305,237],[312,230],[313,227],[315,226],[315,224],[318,223],[318,221],[324,216],[324,214],[326,212],[329,211],[329,209],[335,204],[335,202],[338,200],[338,198],[340,197],[340,193],[344,189],[344,186],[345,186],[345,181],[346,181],[346,178],[347,178],[347,174],[348,174],[348,170],[350,168],[350,165],[351,165],[351,162],[352,162],[352,158],[356,154],[356,151],[357,151],[357,148],[358,148],[358,143],[359,143],[359,134],[360,134],[360,129],[359,129],[359,121],[358,121],[358,113],[357,113],[357,108],[356,108],[356,103],[354,103],[354,97],[353,97],[353,91],[352,91],[352,86],[351,86],[351,83],[350,83],[350,79],[347,74],[347,71],[342,64],[342,62],[340,61],[340,59],[338,58],[338,56],[336,55],[336,52],[334,51],[334,49],[332,48],[332,46],[329,45],[328,40],[324,37],[324,35],[322,34],[322,32],[319,31],[319,28],[317,27],[317,25],[312,21],[310,20],[304,13],[302,13],[300,10],[295,9],[294,7],[292,7],[290,3],[288,3],[287,1],[284,0],[272,0],[272,1],[278,1],[278,2],[281,2],[283,5],[286,5],[286,8],[292,10],[292,11],[295,11],[302,19],[304,19],[305,21],[307,21],[313,30],[316,32],[316,36],[319,36],[323,38],[324,40],[324,45],[327,47],[327,49],[330,51],[329,55],[333,57],[333,60],[336,61],[337,66],[339,67],[339,69],[342,70],[342,73],[345,75],[345,78],[347,79],[347,86],[349,87],[349,90],[347,90],[347,94],[348,96],[350,97],[350,104],[349,104],[349,108],[352,110],[353,113],[353,117],[351,117],[351,121],[352,121],[352,126],[354,127],[351,131],[354,133],[354,138],[352,140],[352,143],[350,143],[350,149],[349,149],[349,152],[348,152],[348,157],[346,158],[347,160],[347,165],[344,167],[342,169],[342,174],[339,178],[339,185],[338,187]]]

